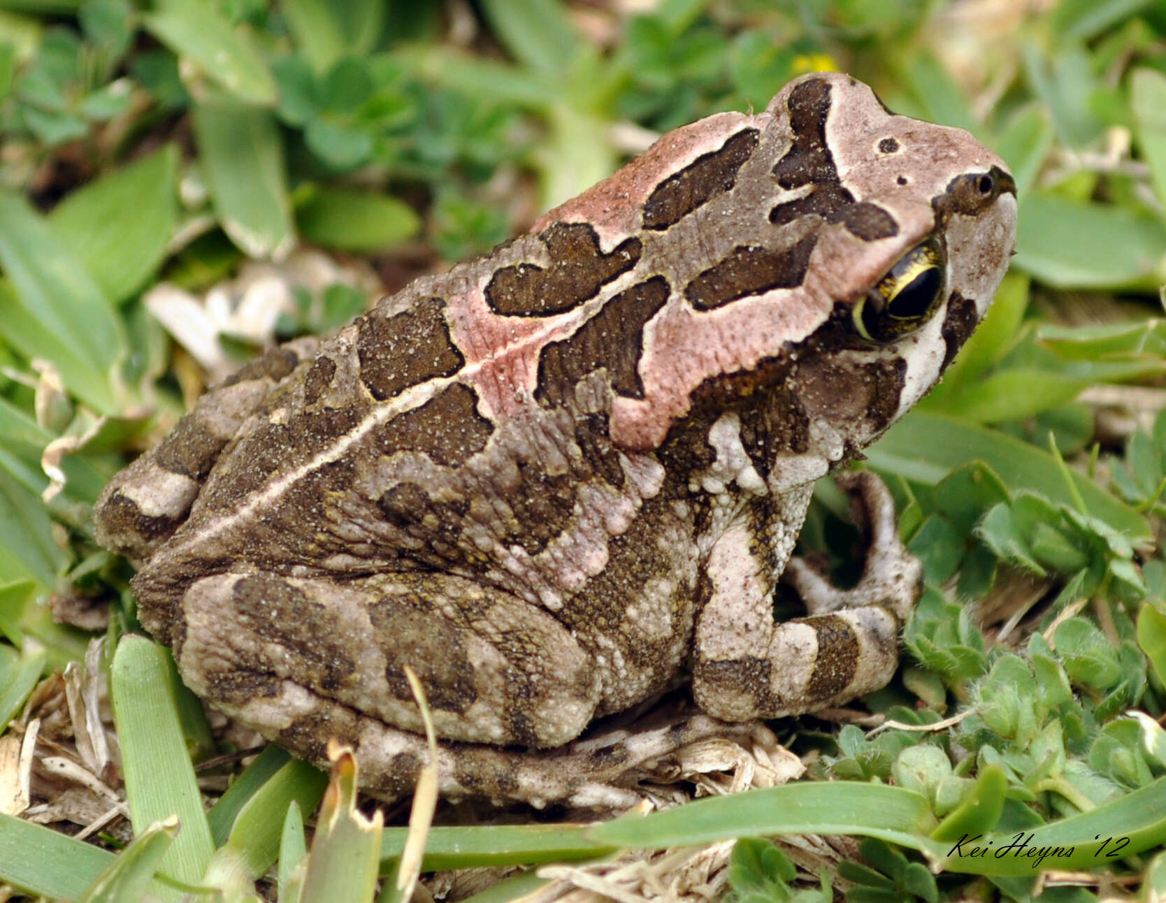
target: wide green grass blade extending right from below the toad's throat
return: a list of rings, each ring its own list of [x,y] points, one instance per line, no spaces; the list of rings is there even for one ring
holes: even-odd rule
[[[942,414],[912,411],[868,449],[866,457],[874,470],[928,485],[956,467],[979,460],[1000,474],[1012,492],[1031,489],[1054,502],[1074,503],[1048,452]],[[1094,517],[1124,532],[1135,545],[1151,542],[1146,520],[1133,508],[1079,473],[1073,474],[1073,481]]]

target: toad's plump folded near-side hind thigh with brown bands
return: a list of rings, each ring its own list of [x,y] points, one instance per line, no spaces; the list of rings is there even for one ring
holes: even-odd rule
[[[454,574],[229,572],[191,584],[180,616],[174,652],[190,689],[316,761],[330,732],[359,739],[339,729],[354,718],[345,711],[423,733],[406,665],[447,740],[562,746],[599,699],[595,662],[567,628]]]

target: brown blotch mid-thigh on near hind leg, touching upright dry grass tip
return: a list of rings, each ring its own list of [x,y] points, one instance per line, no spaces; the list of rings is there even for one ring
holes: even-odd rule
[[[413,669],[433,708],[461,714],[478,698],[473,665],[462,642],[463,630],[436,612],[421,611],[396,599],[368,606],[374,639],[385,654],[389,692],[413,703],[405,665]]]

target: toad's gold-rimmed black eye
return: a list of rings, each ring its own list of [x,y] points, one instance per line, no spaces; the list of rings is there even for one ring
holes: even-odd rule
[[[920,326],[943,297],[943,248],[928,239],[907,252],[854,309],[864,339],[892,341]]]

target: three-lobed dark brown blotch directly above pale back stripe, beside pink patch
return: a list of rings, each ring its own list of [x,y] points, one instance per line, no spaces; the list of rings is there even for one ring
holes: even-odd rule
[[[499,269],[486,285],[486,302],[496,313],[546,317],[562,313],[595,297],[640,259],[639,239],[626,239],[610,254],[599,251],[599,237],[588,223],[554,223],[539,238],[550,253],[546,269],[519,263]]]

